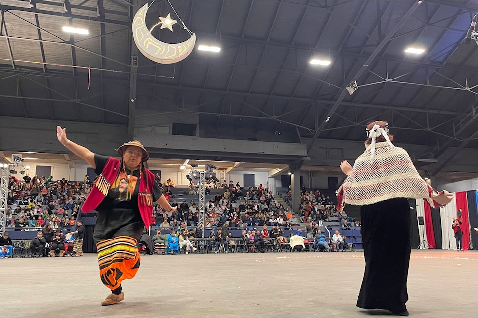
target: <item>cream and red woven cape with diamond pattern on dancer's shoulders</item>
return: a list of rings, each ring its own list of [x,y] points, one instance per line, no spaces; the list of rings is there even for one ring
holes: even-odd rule
[[[406,150],[388,142],[376,143],[373,161],[368,145],[336,194],[339,211],[346,203],[368,205],[393,198],[424,198],[432,207],[439,207],[431,199],[438,193],[418,174]]]

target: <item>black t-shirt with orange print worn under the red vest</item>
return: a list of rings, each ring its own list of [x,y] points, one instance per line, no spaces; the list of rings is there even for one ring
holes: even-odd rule
[[[95,172],[100,174],[109,157],[95,154]],[[101,240],[112,239],[126,235],[137,240],[144,231],[144,222],[138,206],[139,169],[133,171],[119,171],[113,181],[107,196],[96,208],[98,211],[93,237],[95,243]],[[146,176],[143,176],[146,177]],[[153,202],[163,193],[158,184],[153,181]]]

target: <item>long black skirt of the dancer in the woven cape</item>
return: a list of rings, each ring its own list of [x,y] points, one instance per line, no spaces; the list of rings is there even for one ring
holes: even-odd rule
[[[401,312],[408,300],[410,206],[406,198],[389,199],[360,209],[365,274],[357,306]]]

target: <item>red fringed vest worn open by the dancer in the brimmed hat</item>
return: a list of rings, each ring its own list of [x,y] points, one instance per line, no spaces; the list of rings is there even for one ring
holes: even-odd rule
[[[94,186],[81,207],[83,212],[90,212],[100,205],[101,201],[103,201],[108,194],[111,185],[115,182],[120,168],[121,160],[110,157],[108,161],[106,161],[101,174],[95,179]],[[145,178],[148,180],[147,189]],[[149,228],[151,225],[151,217],[153,215],[153,185],[154,174],[146,169],[146,175],[143,175],[139,180],[138,193],[139,212],[146,228]]]

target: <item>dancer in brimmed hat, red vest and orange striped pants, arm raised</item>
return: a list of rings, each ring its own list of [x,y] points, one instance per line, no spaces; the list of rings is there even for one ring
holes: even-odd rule
[[[93,239],[101,281],[111,291],[101,305],[116,304],[124,300],[122,281],[133,278],[139,269],[137,242],[144,228],[151,225],[153,203],[156,201],[168,213],[176,208],[171,207],[154,181],[154,174],[144,166],[149,154],[139,141],[119,146],[121,159],[117,159],[94,154],[69,140],[66,128],[57,126],[56,135],[64,147],[84,159],[98,175],[82,210],[98,211]],[[121,189],[120,181],[126,183]]]

